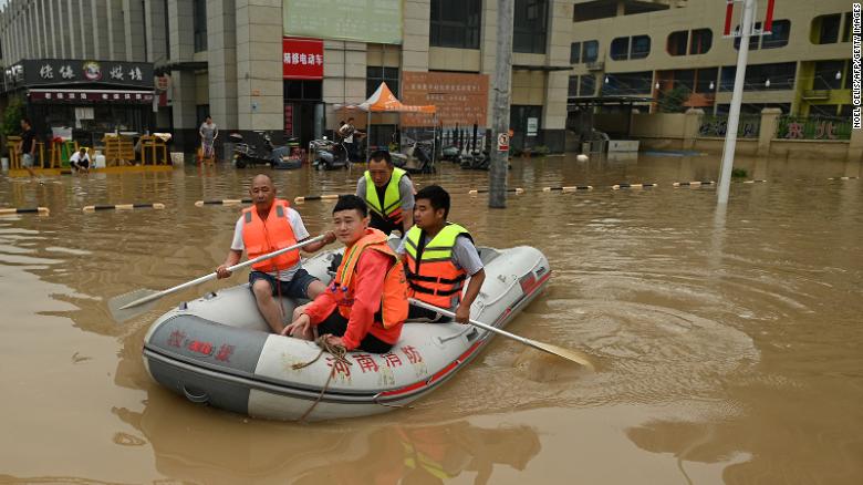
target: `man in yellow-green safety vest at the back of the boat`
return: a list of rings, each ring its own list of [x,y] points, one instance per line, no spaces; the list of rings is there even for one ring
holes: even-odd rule
[[[414,225],[414,184],[405,171],[393,166],[389,152],[372,153],[365,174],[356,182],[356,196],[368,205],[368,227],[386,235],[398,230],[404,236]]]

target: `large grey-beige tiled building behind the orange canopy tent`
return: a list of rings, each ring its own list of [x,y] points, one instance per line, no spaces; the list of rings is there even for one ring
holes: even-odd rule
[[[572,7],[516,1],[512,125],[521,143],[563,147]],[[455,124],[481,132],[490,124],[496,22],[495,0],[11,0],[0,13],[0,51],[4,68],[41,59],[152,63],[155,128],[171,130],[178,143],[197,142],[205,114],[223,130],[321,136],[351,116],[339,106],[363,102],[382,81],[408,102],[449,103]],[[320,42],[320,74],[287,65],[305,54],[289,51],[292,38]],[[460,78],[465,86],[436,82],[436,73],[479,78]],[[383,142],[402,122],[375,123],[372,138]]]

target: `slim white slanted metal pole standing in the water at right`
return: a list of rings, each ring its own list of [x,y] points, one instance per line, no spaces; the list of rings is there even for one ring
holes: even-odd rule
[[[735,163],[735,146],[737,145],[737,126],[740,123],[740,102],[744,97],[744,81],[746,79],[746,61],[749,56],[749,37],[752,33],[755,17],[755,0],[744,0],[744,20],[740,23],[740,49],[737,52],[737,72],[735,73],[735,91],[731,95],[731,107],[728,112],[728,128],[725,133],[722,148],[722,172],[719,175],[718,203],[728,204],[728,190],[731,185],[731,168]]]

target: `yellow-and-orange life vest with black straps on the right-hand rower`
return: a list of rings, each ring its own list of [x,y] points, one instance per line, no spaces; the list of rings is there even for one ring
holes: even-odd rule
[[[408,297],[444,309],[450,309],[461,302],[461,288],[467,279],[467,271],[453,262],[453,248],[460,235],[470,238],[467,229],[447,223],[417,257],[425,231],[417,226],[407,231],[405,270]],[[472,242],[474,239],[470,240]]]

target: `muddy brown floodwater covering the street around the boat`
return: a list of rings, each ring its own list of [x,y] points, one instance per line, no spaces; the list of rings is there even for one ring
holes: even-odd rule
[[[142,339],[187,291],[124,324],[107,298],[206,274],[250,172],[0,179],[0,483],[863,482],[863,180],[857,164],[746,159],[727,211],[716,157],[517,161],[490,211],[484,173],[441,166],[485,245],[533,245],[547,293],[510,330],[579,349],[584,374],[497,339],[440,390],[373,419],[299,425],[199,407],[152,383]],[[360,175],[277,173],[293,197]],[[659,183],[611,190],[621,182]],[[591,184],[592,192],[542,193]],[[604,187],[603,187],[604,186]],[[83,214],[91,204],[165,210]],[[330,203],[300,208],[314,234]],[[242,281],[242,276],[235,277]],[[226,285],[226,283],[222,283]]]

